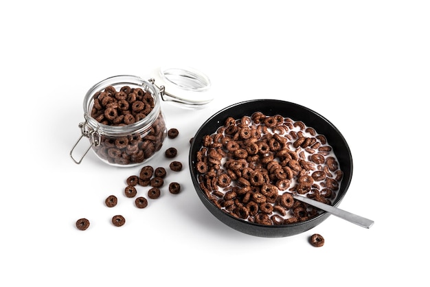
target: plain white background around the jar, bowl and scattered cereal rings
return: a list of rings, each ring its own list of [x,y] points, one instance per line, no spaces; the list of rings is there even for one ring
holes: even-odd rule
[[[281,4],[282,3],[282,4]],[[429,257],[428,1],[14,1],[0,4],[0,286],[425,286]],[[212,80],[199,111],[163,103],[184,169],[146,209],[122,196],[139,168],[69,151],[88,89],[181,62]],[[346,209],[288,238],[258,238],[205,209],[189,139],[242,100],[302,104],[330,120],[354,159]],[[150,164],[168,166],[159,157]],[[117,207],[104,198],[115,194]],[[144,195],[144,189],[139,190]],[[115,214],[126,225],[113,227]],[[78,218],[91,220],[78,231]],[[315,248],[308,237],[320,233]]]

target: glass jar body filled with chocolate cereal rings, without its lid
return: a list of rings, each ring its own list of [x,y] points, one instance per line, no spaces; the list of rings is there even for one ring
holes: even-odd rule
[[[151,82],[137,76],[113,76],[95,84],[84,97],[85,122],[79,124],[82,135],[70,152],[73,161],[80,163],[90,149],[117,167],[151,159],[167,134],[160,97]],[[77,160],[73,150],[83,137],[89,138],[90,145]]]

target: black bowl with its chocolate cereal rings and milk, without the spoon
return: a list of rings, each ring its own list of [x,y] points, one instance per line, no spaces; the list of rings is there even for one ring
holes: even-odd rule
[[[190,173],[218,220],[252,236],[294,236],[330,214],[299,194],[337,207],[352,179],[352,154],[319,113],[282,100],[233,104],[194,135]]]

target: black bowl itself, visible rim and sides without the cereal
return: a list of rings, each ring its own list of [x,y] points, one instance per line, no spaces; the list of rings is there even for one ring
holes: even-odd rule
[[[198,181],[199,173],[196,171],[196,154],[202,146],[203,136],[215,133],[220,126],[223,126],[227,117],[240,119],[243,116],[251,116],[254,112],[261,112],[264,115],[282,115],[283,117],[289,117],[294,121],[302,121],[306,126],[315,128],[317,133],[326,137],[328,144],[332,146],[333,152],[335,152],[339,161],[339,168],[343,171],[343,179],[339,186],[339,190],[337,191],[337,196],[332,203],[334,206],[339,205],[343,196],[345,196],[352,179],[352,154],[348,143],[339,130],[322,115],[319,115],[305,106],[300,106],[299,104],[282,100],[249,100],[233,104],[212,115],[212,117],[207,119],[199,130],[197,130],[191,144],[189,157],[191,178],[197,195],[201,199],[203,205],[205,205],[205,207],[216,218],[218,218],[218,220],[242,233],[266,238],[280,238],[294,236],[299,233],[303,233],[304,231],[308,231],[326,220],[330,214],[324,211],[318,216],[304,222],[291,223],[287,225],[260,225],[231,216],[214,205],[214,203],[207,198],[205,192],[201,190]]]

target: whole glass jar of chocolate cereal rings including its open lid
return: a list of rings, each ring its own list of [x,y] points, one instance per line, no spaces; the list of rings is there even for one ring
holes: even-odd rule
[[[166,139],[167,128],[161,112],[161,102],[177,104],[183,108],[204,108],[214,98],[208,93],[211,86],[209,78],[199,70],[181,65],[160,67],[153,73],[154,78],[148,81],[137,76],[113,76],[89,89],[84,97],[85,121],[79,124],[81,135],[70,151],[70,157],[75,163],[81,163],[91,149],[109,165],[133,167],[145,163],[157,154]],[[137,109],[133,107],[133,96],[127,93],[115,95],[122,89],[124,93],[141,93],[139,89],[142,89],[144,95],[136,95],[141,102]],[[100,95],[101,93],[105,94]],[[116,100],[103,99],[106,95],[115,97]],[[123,97],[128,103],[121,102]],[[147,111],[147,104],[150,104],[150,112],[141,115],[138,110],[142,108]],[[109,111],[106,111],[108,108]],[[120,119],[120,116],[124,118]],[[82,157],[76,159],[73,151],[78,149],[77,146],[84,137],[89,139],[89,146],[83,148]]]

